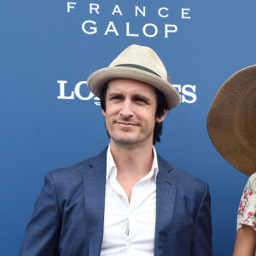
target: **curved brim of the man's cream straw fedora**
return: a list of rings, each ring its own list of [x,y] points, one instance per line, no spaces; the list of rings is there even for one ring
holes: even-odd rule
[[[112,79],[134,79],[152,85],[164,94],[169,109],[177,107],[180,102],[180,96],[172,84],[153,73],[132,67],[105,67],[99,69],[90,75],[87,79],[87,85],[90,91],[99,97],[102,86]]]

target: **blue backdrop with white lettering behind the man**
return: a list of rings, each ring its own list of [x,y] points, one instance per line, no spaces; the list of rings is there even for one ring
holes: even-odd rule
[[[221,84],[255,64],[255,9],[254,0],[3,0],[0,254],[18,254],[45,172],[108,144],[86,79],[141,44],[160,55],[183,99],[156,148],[209,183],[213,253],[231,255],[247,177],[212,146],[206,121]]]

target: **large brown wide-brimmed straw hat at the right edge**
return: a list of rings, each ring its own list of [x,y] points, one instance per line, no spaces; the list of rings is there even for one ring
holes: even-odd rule
[[[256,65],[241,69],[220,87],[207,130],[225,160],[247,175],[256,172]]]

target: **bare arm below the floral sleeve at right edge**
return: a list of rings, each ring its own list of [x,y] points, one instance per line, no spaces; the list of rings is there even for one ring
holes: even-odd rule
[[[256,232],[251,226],[243,225],[237,231],[233,256],[254,256],[256,251]]]

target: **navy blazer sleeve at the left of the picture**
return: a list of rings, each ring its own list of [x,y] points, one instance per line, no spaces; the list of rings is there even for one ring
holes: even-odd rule
[[[44,182],[32,218],[26,227],[20,256],[59,255],[61,213],[50,172],[45,175]]]

